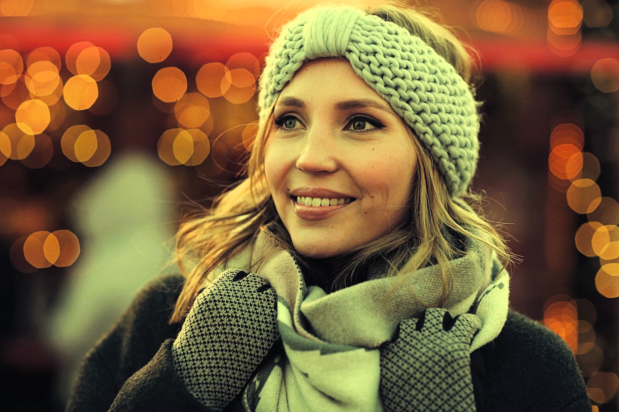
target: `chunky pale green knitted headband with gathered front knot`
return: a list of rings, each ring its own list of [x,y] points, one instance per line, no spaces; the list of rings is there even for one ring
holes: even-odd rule
[[[261,121],[305,61],[343,56],[412,128],[452,197],[475,174],[477,102],[456,69],[405,28],[352,7],[314,7],[282,27],[259,79]]]

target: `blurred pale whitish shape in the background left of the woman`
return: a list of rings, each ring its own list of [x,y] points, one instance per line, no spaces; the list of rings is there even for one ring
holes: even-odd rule
[[[63,400],[86,352],[137,291],[170,267],[176,227],[165,166],[142,152],[110,160],[74,200],[82,252],[46,325],[63,361],[58,387]]]

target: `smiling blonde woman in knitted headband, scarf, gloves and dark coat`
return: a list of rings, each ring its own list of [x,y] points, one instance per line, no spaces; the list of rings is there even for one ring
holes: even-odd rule
[[[248,179],[181,226],[184,276],[142,290],[67,410],[590,411],[568,346],[508,308],[513,255],[465,201],[471,77],[404,7],[286,24]]]

